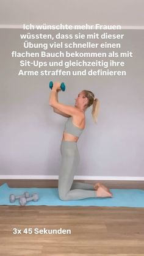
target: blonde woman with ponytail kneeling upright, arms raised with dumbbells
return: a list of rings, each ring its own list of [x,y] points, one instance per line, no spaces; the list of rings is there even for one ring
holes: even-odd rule
[[[79,164],[77,141],[85,128],[85,111],[93,104],[92,116],[93,120],[97,122],[99,101],[92,92],[83,90],[76,98],[75,105],[68,106],[59,103],[57,92],[60,90],[60,83],[55,82],[49,97],[49,105],[54,108],[54,112],[68,117],[60,146],[62,163],[59,172],[59,197],[61,200],[112,197],[112,192],[101,183],[96,183],[94,186],[86,183],[73,183]]]

